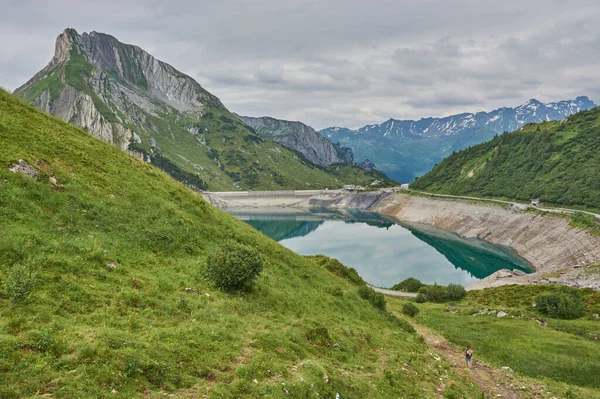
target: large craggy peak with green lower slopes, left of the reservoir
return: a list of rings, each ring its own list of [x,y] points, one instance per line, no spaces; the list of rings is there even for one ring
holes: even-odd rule
[[[353,165],[349,149],[316,132],[317,140],[304,132],[302,140],[313,141],[316,149],[308,156],[278,144],[279,135],[265,139],[191,77],[104,33],[66,29],[50,63],[15,94],[195,189],[318,189],[387,181]],[[338,164],[329,166],[333,163]]]

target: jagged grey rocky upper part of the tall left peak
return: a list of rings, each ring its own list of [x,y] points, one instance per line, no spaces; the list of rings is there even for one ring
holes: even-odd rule
[[[145,113],[164,112],[163,104],[197,116],[206,105],[223,107],[192,78],[141,48],[72,29],[58,36],[50,63],[15,94],[123,150],[133,138],[126,126],[157,130]],[[103,105],[108,109],[99,109]]]

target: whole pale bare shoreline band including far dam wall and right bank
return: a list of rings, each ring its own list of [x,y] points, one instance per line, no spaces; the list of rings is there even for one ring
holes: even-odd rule
[[[221,198],[219,193],[203,196],[221,209],[246,205],[252,208],[329,207],[377,212],[401,223],[430,225],[461,237],[482,238],[492,244],[511,247],[536,270],[524,276],[508,270],[499,271],[469,289],[507,284],[564,284],[600,289],[600,268],[596,266],[600,264],[600,236],[572,227],[562,217],[523,212],[509,205],[426,198],[390,191],[348,193],[332,190],[306,196],[295,193],[279,198],[253,195],[231,199]]]

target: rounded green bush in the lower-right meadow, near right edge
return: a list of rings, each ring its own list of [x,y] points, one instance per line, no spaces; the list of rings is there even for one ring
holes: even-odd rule
[[[561,287],[558,291],[538,295],[537,309],[556,319],[577,319],[585,313],[583,295],[575,288]]]

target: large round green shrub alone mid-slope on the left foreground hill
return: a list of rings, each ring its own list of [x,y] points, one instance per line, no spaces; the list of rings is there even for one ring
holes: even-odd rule
[[[208,256],[208,279],[223,291],[248,291],[263,267],[260,253],[248,245],[229,240]]]

